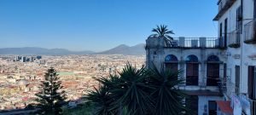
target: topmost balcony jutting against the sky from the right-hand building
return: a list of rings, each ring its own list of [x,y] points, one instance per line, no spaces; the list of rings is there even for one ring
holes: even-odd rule
[[[219,20],[219,18],[235,3],[236,0],[219,0],[218,1],[218,14],[213,20]]]

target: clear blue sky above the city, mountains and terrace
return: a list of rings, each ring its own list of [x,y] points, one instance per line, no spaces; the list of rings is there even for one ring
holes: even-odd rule
[[[217,37],[217,11],[217,0],[0,0],[0,48],[102,51],[145,43],[160,24]]]

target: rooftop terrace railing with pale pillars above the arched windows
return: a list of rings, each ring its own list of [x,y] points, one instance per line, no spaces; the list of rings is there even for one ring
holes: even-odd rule
[[[221,49],[224,48],[222,37],[176,37],[164,45],[165,48],[188,48],[188,49]]]

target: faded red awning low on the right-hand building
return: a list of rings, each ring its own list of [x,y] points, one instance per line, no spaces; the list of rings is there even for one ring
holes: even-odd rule
[[[230,107],[230,101],[216,101],[221,112],[233,114],[233,109]]]

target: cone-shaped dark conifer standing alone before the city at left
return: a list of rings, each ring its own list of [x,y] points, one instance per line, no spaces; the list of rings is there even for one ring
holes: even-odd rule
[[[65,91],[61,91],[61,81],[53,67],[44,75],[38,94],[38,108],[41,114],[61,114],[61,106],[65,103]]]

